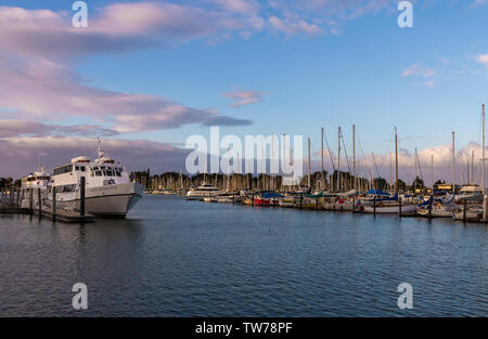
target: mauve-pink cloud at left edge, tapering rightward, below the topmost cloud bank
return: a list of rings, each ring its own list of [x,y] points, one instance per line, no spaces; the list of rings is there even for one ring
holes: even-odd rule
[[[59,120],[69,116],[91,117],[118,132],[179,128],[207,123],[222,116],[211,109],[196,109],[158,96],[120,93],[89,87],[65,64],[46,58],[21,60],[0,55],[0,102],[14,109],[2,115],[17,118]],[[249,120],[226,117],[227,125]],[[218,121],[218,120],[215,120]]]

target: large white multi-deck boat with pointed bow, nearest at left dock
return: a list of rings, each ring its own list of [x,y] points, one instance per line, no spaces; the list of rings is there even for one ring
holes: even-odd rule
[[[52,192],[55,191],[59,208],[78,209],[82,177],[86,181],[86,212],[94,216],[125,217],[144,191],[141,184],[130,182],[129,173],[120,162],[104,156],[99,142],[95,160],[80,156],[53,169],[49,199],[52,201]]]

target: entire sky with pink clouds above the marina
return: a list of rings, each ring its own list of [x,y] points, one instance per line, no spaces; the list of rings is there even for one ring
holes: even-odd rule
[[[94,155],[98,136],[131,170],[178,171],[210,126],[310,138],[319,169],[320,128],[350,156],[354,123],[363,175],[389,177],[396,126],[404,180],[415,148],[423,177],[434,155],[451,178],[452,131],[457,180],[472,151],[479,178],[487,0],[411,1],[411,28],[396,0],[97,0],[81,28],[74,2],[0,3],[0,177]]]

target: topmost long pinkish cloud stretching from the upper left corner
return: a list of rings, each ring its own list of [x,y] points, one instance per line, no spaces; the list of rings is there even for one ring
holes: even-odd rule
[[[262,28],[257,15],[235,15],[239,2],[233,3],[224,11],[156,1],[115,3],[99,9],[82,29],[72,27],[69,12],[0,6],[0,44],[17,55],[59,58],[164,47]],[[246,12],[245,8],[242,11]]]

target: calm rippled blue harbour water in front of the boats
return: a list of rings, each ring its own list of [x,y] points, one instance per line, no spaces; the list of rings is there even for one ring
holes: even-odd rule
[[[164,196],[86,225],[0,216],[0,316],[487,316],[487,233]],[[413,310],[397,308],[403,282]]]

